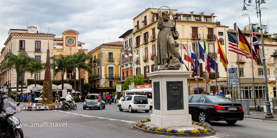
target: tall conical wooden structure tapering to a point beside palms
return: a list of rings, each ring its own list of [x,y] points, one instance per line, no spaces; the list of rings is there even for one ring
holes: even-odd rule
[[[42,104],[52,104],[52,82],[51,82],[51,64],[50,64],[50,52],[49,52],[49,37],[48,37],[48,47],[45,63],[45,74],[43,82],[43,92],[42,92]]]

